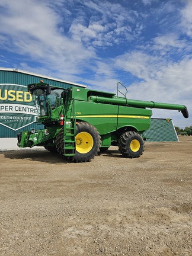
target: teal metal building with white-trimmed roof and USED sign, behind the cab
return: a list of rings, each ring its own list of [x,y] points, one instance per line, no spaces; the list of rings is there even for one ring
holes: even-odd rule
[[[31,127],[40,129],[40,126],[34,124],[36,108],[27,91],[28,84],[38,83],[40,80],[65,89],[72,86],[86,87],[19,69],[0,68],[0,149],[5,148],[8,141],[2,138],[16,138],[18,130],[30,130]]]

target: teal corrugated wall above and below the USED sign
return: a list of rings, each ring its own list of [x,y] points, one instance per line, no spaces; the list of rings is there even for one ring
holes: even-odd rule
[[[10,69],[10,71],[5,71],[3,69],[4,68],[2,68],[2,70],[0,69],[0,84],[17,84],[17,85],[27,86],[28,84],[38,83],[40,82],[41,79],[43,79],[43,81],[46,82],[47,84],[50,84],[56,87],[62,87],[66,89],[74,86],[74,84],[70,84],[69,82],[56,81],[54,78],[53,79],[44,78],[44,76],[41,77],[38,74],[33,75],[33,73],[32,74],[27,72],[22,73],[21,71],[18,72],[17,69],[15,70]],[[78,85],[75,84],[75,87],[78,87]],[[81,87],[84,87],[84,85],[82,85]],[[0,137],[2,138],[17,137],[18,132],[23,130],[30,130],[31,128],[43,129],[43,126],[33,123],[15,131],[0,124]]]

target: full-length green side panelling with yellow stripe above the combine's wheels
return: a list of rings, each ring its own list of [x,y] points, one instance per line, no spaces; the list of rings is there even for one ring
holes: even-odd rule
[[[75,101],[76,120],[94,125],[100,135],[131,126],[142,133],[149,129],[152,110],[112,104]]]

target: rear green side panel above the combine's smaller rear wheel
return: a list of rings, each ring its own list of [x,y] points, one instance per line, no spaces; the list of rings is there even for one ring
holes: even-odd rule
[[[152,110],[119,106],[117,129],[124,126],[134,127],[139,133],[149,129]]]

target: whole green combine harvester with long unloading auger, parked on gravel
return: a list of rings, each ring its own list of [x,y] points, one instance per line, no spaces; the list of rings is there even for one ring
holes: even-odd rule
[[[71,87],[68,89],[40,82],[29,84],[37,107],[37,123],[44,129],[18,133],[20,148],[43,146],[72,162],[91,161],[111,145],[119,146],[126,158],[137,158],[144,151],[141,134],[149,129],[152,110],[178,110],[188,118],[185,105],[129,100],[126,94]]]

